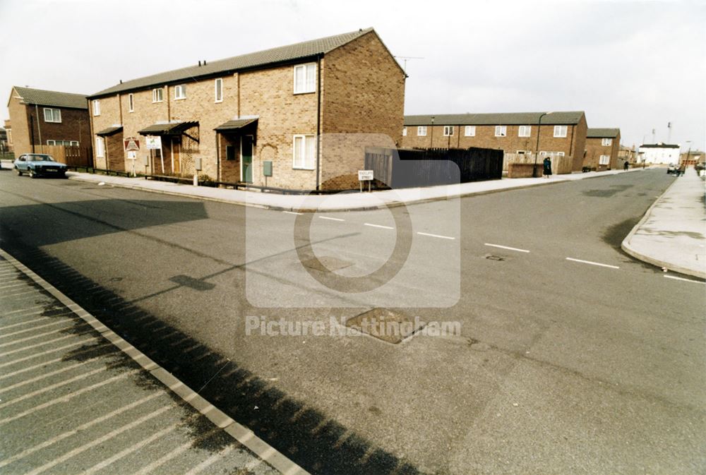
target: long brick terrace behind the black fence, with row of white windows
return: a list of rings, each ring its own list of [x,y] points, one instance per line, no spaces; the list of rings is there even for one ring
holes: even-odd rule
[[[402,145],[408,148],[495,148],[522,155],[534,154],[539,138],[540,156],[573,157],[572,171],[580,172],[586,129],[586,116],[582,111],[414,115],[405,116]]]

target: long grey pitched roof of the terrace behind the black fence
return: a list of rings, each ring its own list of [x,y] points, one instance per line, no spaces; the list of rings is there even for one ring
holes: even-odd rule
[[[542,115],[544,114],[544,115]],[[501,126],[533,125],[542,116],[542,125],[578,124],[583,111],[573,112],[509,112],[506,114],[437,114],[405,116],[405,126],[430,126],[431,118],[437,126]]]

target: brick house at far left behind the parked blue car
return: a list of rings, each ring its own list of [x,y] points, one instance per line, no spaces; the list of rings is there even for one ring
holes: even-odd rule
[[[37,145],[90,145],[85,95],[32,88],[12,88],[7,103],[15,155]]]

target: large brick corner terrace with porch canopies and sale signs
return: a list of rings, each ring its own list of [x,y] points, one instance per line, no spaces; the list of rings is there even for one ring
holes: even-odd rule
[[[368,28],[121,82],[89,97],[96,167],[191,176],[200,158],[201,174],[222,182],[354,187],[362,151],[326,137],[399,143],[405,78]],[[136,160],[123,150],[129,137]],[[147,140],[161,147],[146,150]]]

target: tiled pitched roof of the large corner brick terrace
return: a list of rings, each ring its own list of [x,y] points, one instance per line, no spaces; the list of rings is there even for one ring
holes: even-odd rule
[[[232,58],[220,59],[209,62],[203,66],[189,66],[186,68],[166,71],[164,73],[152,74],[144,78],[128,80],[120,84],[114,85],[112,88],[104,89],[96,92],[90,97],[98,97],[102,95],[115,94],[126,90],[138,90],[148,88],[153,85],[163,85],[165,83],[173,83],[175,81],[185,79],[195,79],[200,76],[210,76],[217,73],[226,73],[239,71],[246,68],[256,68],[268,66],[270,64],[282,63],[285,61],[294,61],[295,59],[310,58],[317,54],[326,54],[333,51],[344,44],[374,31],[373,28],[366,28],[342,35],[329,36],[319,38],[318,40],[310,40],[287,46],[265,49],[260,52],[241,54]]]

